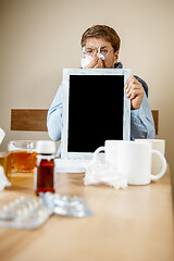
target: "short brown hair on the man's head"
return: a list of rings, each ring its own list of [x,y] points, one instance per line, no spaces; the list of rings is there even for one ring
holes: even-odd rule
[[[82,47],[86,45],[86,39],[89,37],[104,38],[107,41],[111,44],[114,51],[117,51],[120,49],[121,39],[117,33],[107,25],[94,25],[89,27],[87,30],[85,30],[80,40]]]

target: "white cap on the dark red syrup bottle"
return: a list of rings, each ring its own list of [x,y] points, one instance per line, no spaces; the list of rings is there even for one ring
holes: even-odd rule
[[[38,140],[37,145],[36,145],[36,152],[54,154],[55,153],[55,142],[52,140]]]

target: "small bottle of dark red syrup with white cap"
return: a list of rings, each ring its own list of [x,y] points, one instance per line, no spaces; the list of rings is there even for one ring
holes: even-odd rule
[[[35,167],[35,192],[54,192],[54,154],[55,144],[52,140],[39,140],[36,146],[37,161]]]

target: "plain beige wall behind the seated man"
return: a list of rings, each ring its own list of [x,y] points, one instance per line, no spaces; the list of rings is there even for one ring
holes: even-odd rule
[[[151,109],[160,111],[158,138],[166,140],[173,174],[173,0],[1,0],[0,126],[7,133],[1,150],[11,139],[49,138],[11,132],[10,111],[50,107],[62,69],[80,66],[80,36],[94,24],[117,30],[124,67],[148,83]]]

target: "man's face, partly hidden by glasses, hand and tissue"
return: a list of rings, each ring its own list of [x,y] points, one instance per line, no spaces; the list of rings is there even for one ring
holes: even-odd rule
[[[92,47],[95,49],[94,53],[91,54],[92,58],[97,57],[97,51],[99,47],[105,47],[110,51],[104,58],[104,67],[105,69],[113,69],[114,64],[117,62],[119,59],[119,51],[114,52],[113,47],[111,46],[110,41],[107,41],[104,38],[96,38],[96,37],[89,37],[86,39],[86,48]]]

